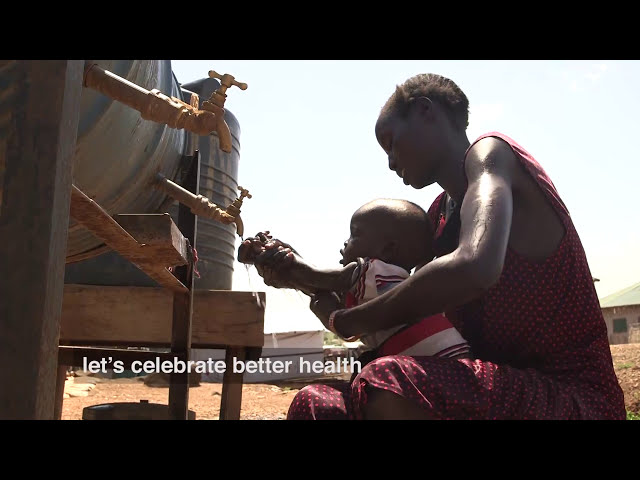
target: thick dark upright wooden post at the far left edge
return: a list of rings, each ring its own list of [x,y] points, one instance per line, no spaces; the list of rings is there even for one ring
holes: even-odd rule
[[[0,73],[0,86],[15,88],[0,152],[0,419],[54,418],[83,69],[83,60],[21,60],[17,81]]]

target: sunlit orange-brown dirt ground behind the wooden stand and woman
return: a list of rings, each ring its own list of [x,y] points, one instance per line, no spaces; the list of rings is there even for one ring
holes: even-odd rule
[[[618,380],[625,394],[627,410],[640,413],[640,343],[612,345],[611,353]],[[328,379],[335,381],[334,379]],[[318,382],[321,379],[317,380]],[[245,384],[242,390],[241,420],[283,420],[296,392],[305,384]],[[82,410],[91,405],[114,402],[168,403],[167,387],[147,386],[142,377],[133,379],[100,379],[76,377],[66,389],[71,396],[63,403],[63,420],[82,419]],[[198,420],[217,420],[220,414],[222,385],[201,383],[189,390],[189,409]]]

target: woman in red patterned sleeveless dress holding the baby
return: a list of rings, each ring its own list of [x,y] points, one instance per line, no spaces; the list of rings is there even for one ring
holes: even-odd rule
[[[476,360],[383,357],[344,388],[302,389],[288,418],[625,418],[567,208],[536,160],[507,136],[470,144],[468,108],[460,88],[439,75],[397,87],[376,137],[406,185],[444,189],[429,210],[438,258],[363,305],[335,310],[318,299],[313,308],[345,338],[444,311]],[[284,285],[286,272],[261,274]]]

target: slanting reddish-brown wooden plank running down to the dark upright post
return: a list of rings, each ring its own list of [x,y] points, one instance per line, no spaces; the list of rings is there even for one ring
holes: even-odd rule
[[[75,185],[71,188],[70,214],[74,220],[163,287],[177,292],[187,291],[187,287],[166,269],[166,267],[175,266],[172,263],[173,256],[171,258],[156,256],[157,251],[153,246],[146,247],[144,244],[138,243],[106,210]],[[157,217],[155,218],[157,220]],[[149,221],[152,221],[152,218]],[[184,238],[182,241],[184,242]],[[180,246],[176,253],[179,254],[185,248]],[[184,259],[184,263],[186,263],[186,259]]]

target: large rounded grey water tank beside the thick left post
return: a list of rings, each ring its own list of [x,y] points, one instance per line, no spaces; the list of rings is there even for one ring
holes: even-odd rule
[[[147,90],[182,98],[170,60],[88,60]],[[160,172],[174,179],[189,133],[143,120],[140,112],[89,88],[82,90],[73,181],[110,214],[153,213],[166,195],[150,187]],[[70,219],[67,261],[108,247]]]

